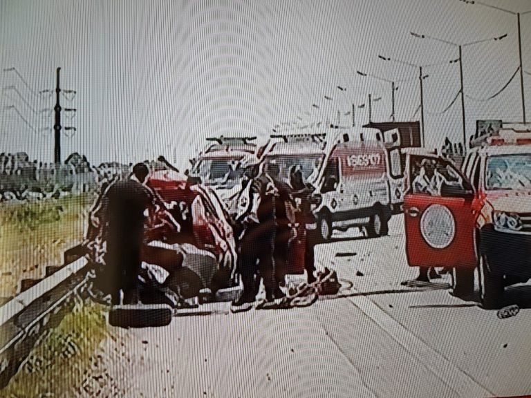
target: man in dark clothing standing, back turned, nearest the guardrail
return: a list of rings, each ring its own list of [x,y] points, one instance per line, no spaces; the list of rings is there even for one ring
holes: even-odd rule
[[[153,194],[144,183],[149,174],[146,164],[133,167],[132,178],[109,185],[99,198],[93,218],[98,220],[100,238],[106,243],[105,272],[100,283],[111,293],[113,304],[138,303],[138,273],[142,263],[140,251],[144,243],[145,211],[153,207]],[[95,236],[89,232],[89,236]]]

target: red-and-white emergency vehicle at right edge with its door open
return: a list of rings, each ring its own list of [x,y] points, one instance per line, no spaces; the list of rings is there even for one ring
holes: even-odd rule
[[[407,173],[409,265],[451,267],[458,296],[473,292],[477,268],[483,306],[502,306],[505,286],[531,278],[531,130],[486,137],[462,169],[436,155],[410,155]]]

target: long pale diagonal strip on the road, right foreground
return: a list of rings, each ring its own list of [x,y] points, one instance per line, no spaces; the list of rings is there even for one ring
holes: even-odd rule
[[[353,288],[354,291],[357,291]],[[443,381],[451,390],[460,397],[492,397],[490,392],[477,381],[472,379],[463,370],[451,363],[440,352],[431,348],[427,343],[416,337],[412,332],[404,328],[402,324],[386,314],[378,305],[366,296],[351,296],[348,298],[366,316],[369,316],[380,328],[388,333],[397,343],[402,345],[407,352],[418,359],[434,375]]]

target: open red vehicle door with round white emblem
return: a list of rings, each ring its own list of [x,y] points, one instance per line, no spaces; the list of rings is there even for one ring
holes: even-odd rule
[[[449,160],[408,155],[404,196],[410,267],[476,267],[474,191]]]

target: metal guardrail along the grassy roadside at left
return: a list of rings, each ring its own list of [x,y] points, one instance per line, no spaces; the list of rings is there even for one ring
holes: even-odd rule
[[[17,294],[0,307],[0,388],[6,386],[48,328],[57,325],[62,308],[73,306],[86,285],[85,257],[67,259],[66,265]],[[72,262],[69,262],[72,261]]]

